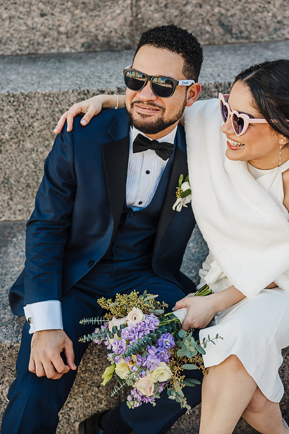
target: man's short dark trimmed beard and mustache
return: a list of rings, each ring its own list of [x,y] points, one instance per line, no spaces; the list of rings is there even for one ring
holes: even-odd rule
[[[124,105],[125,108],[127,109],[127,115],[130,119],[130,124],[144,134],[153,135],[166,130],[171,125],[174,125],[176,122],[178,122],[185,111],[186,103],[187,103],[187,99],[185,98],[182,107],[179,109],[179,112],[177,112],[171,118],[164,120],[164,113],[166,109],[163,109],[161,106],[157,105],[154,102],[150,102],[149,107],[157,107],[158,109],[162,110],[162,115],[159,116],[159,118],[154,121],[150,121],[149,115],[145,115],[145,114],[142,115],[142,118],[135,119],[133,117],[132,108],[128,109],[126,103],[124,103]],[[136,104],[144,104],[144,102],[141,100],[134,101],[133,105]]]

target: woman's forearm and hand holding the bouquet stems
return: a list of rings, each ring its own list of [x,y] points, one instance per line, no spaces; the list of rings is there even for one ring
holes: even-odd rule
[[[227,289],[205,297],[188,297],[175,303],[175,309],[185,307],[187,316],[182,329],[203,329],[217,312],[234,306],[245,298],[238,289],[230,286]]]

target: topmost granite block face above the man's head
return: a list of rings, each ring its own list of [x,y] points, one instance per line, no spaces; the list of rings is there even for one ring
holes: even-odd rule
[[[289,38],[286,1],[2,0],[0,55],[133,49],[148,27],[175,23],[202,45]]]

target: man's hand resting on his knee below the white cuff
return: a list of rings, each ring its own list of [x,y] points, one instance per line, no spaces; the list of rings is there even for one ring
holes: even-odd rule
[[[60,353],[64,351],[67,365]],[[70,369],[75,370],[72,342],[64,330],[42,330],[33,333],[29,371],[37,377],[61,378]]]

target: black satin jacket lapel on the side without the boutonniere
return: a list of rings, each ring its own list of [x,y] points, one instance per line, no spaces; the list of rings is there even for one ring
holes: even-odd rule
[[[130,153],[130,137],[107,143],[102,147],[104,157],[104,173],[107,184],[107,192],[110,201],[114,229],[111,239],[114,239],[120,216],[123,210],[123,202],[127,185],[127,166]]]

